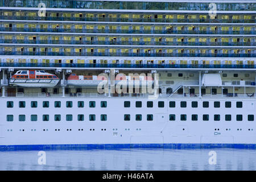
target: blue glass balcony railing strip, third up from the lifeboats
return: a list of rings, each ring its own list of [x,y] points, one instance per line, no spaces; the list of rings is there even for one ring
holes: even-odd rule
[[[166,41],[114,41],[114,40],[9,40],[0,39],[5,44],[73,44],[73,45],[130,45],[130,46],[256,46],[255,42],[166,42]]]

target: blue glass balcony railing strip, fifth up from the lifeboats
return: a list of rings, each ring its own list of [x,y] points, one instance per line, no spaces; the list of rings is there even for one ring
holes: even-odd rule
[[[207,14],[208,15],[208,14]],[[221,16],[221,15],[220,15]],[[42,21],[79,21],[79,22],[142,22],[142,23],[256,23],[251,19],[171,19],[171,18],[88,18],[88,17],[40,17],[40,16],[0,16],[7,20],[42,20]]]

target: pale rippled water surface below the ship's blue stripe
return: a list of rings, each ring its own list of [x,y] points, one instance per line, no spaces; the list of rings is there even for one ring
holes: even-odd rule
[[[209,151],[216,151],[216,165],[209,164]],[[38,158],[38,151],[0,151],[0,170],[255,170],[256,150],[51,150],[46,165]]]

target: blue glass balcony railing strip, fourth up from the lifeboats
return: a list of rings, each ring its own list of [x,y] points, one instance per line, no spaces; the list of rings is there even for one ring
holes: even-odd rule
[[[185,28],[184,28],[185,29]],[[222,31],[222,30],[172,30],[165,29],[162,30],[121,30],[121,29],[86,29],[86,28],[16,28],[16,27],[2,27],[0,31],[12,31],[12,32],[56,32],[56,33],[101,33],[101,34],[230,34],[230,35],[254,35],[255,30],[252,27],[251,31]],[[208,28],[209,29],[209,28]],[[231,28],[230,28],[231,29]],[[242,29],[242,27],[241,27]]]

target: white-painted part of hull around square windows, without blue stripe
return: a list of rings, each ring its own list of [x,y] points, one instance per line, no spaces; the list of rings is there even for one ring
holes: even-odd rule
[[[13,108],[6,108],[7,101],[14,101]],[[26,101],[26,108],[19,108],[19,101]],[[30,102],[49,101],[49,108],[31,108]],[[54,106],[61,101],[61,110]],[[73,101],[73,107],[65,107],[66,101]],[[84,101],[83,108],[77,101]],[[89,101],[96,101],[90,108]],[[107,101],[106,108],[100,107]],[[131,107],[124,108],[124,101]],[[142,101],[141,108],[135,108],[135,101]],[[247,121],[248,114],[255,114],[255,98],[239,99],[243,108],[236,108],[237,98],[232,101],[232,109],[223,108],[227,98],[218,98],[221,108],[213,108],[216,98],[172,98],[154,101],[154,107],[146,107],[147,98],[2,98],[0,109],[0,146],[46,145],[46,144],[256,144],[255,121]],[[152,100],[151,100],[152,101]],[[164,108],[157,106],[164,101]],[[187,101],[189,108],[168,107],[169,101]],[[191,101],[198,101],[200,107],[190,108]],[[209,108],[201,108],[203,101],[209,101]],[[85,109],[86,108],[86,109]],[[15,113],[14,113],[15,110]],[[203,121],[203,114],[209,114],[209,121]],[[6,115],[13,114],[14,121],[7,122]],[[26,115],[26,121],[18,121],[19,114]],[[38,115],[38,121],[31,122],[30,115]],[[48,114],[49,121],[42,121]],[[54,115],[61,114],[61,121],[54,121]],[[73,121],[66,121],[66,114],[73,115]],[[84,114],[84,121],[77,121],[77,115]],[[96,115],[96,121],[89,121],[89,114]],[[107,121],[101,121],[101,114],[107,114]],[[124,114],[130,114],[130,121],[124,121]],[[135,114],[142,114],[142,121],[135,121]],[[154,120],[147,121],[146,115],[153,114]],[[169,114],[176,114],[175,121],[169,121]],[[187,114],[187,121],[180,121],[180,114]],[[191,115],[198,114],[198,121],[191,121]],[[213,114],[220,114],[220,121],[213,120]],[[232,121],[225,121],[225,114],[232,114]],[[243,114],[243,121],[236,121],[236,114]],[[81,130],[83,129],[83,130]],[[106,130],[105,130],[106,129]],[[249,130],[250,129],[250,130]],[[252,130],[253,129],[253,130]],[[12,130],[12,131],[10,131]],[[23,131],[24,130],[24,131]],[[45,130],[45,131],[44,131]],[[57,131],[56,131],[57,130]],[[59,131],[58,131],[59,130]]]

